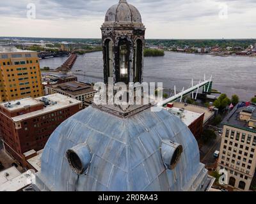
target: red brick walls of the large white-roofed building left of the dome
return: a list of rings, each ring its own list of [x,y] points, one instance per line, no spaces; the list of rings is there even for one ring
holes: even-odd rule
[[[24,152],[28,152],[32,149],[36,151],[44,149],[45,143],[47,143],[52,132],[61,122],[79,112],[79,110],[79,105],[74,105],[24,120],[21,122],[20,129],[15,129],[15,124],[12,120],[0,112],[0,127],[1,131],[3,131],[4,142],[7,143],[6,150],[15,157],[15,159],[20,161],[20,157],[23,157]],[[8,145],[12,147],[19,156],[8,147]],[[20,161],[20,163],[22,163],[22,161]]]

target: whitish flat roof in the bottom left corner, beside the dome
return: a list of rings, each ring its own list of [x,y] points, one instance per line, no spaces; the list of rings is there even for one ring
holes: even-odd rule
[[[24,187],[31,185],[34,178],[35,174],[33,171],[28,170],[25,173],[0,184],[0,191],[20,191],[21,189],[24,189]]]

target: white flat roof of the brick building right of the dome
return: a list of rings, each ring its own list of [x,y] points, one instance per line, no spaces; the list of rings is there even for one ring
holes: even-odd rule
[[[180,113],[180,119],[186,126],[190,126],[196,119],[198,119],[201,115],[204,113],[196,113],[196,112],[191,112],[189,110],[182,110],[180,111],[180,108],[168,108],[166,107],[166,110],[168,112],[173,113],[174,115],[178,116],[176,113]]]

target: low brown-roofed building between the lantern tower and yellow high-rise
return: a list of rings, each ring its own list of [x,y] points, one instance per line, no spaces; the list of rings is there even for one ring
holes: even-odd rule
[[[45,86],[45,94],[48,95],[58,93],[70,98],[77,99],[82,101],[83,108],[88,106],[86,99],[93,98],[96,92],[97,91],[93,89],[92,85],[76,81]]]

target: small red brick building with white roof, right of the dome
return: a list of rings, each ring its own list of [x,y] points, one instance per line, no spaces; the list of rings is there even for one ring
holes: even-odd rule
[[[169,103],[166,107],[168,112],[173,113],[179,117],[186,126],[190,129],[191,133],[195,136],[196,140],[202,136],[204,124],[204,112],[196,113],[184,108],[176,108],[173,103]]]

